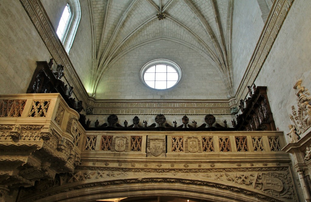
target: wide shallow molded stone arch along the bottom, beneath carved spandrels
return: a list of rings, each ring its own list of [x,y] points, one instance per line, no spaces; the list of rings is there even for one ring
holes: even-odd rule
[[[90,171],[94,172],[94,171]],[[287,201],[280,200],[257,190],[246,189],[242,186],[232,186],[224,182],[207,182],[190,180],[186,178],[128,178],[111,181],[82,180],[55,186],[43,183],[45,190],[35,188],[37,192],[24,196],[19,202],[24,201],[91,201],[109,198],[137,197],[137,196],[178,196],[189,197],[197,200],[222,201],[222,202],[264,202]],[[41,187],[41,188],[43,188]],[[29,190],[26,190],[26,193]],[[31,192],[30,192],[31,193]]]

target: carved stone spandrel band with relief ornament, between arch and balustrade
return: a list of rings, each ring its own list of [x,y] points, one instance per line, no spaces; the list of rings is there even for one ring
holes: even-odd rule
[[[187,167],[185,164],[184,167]],[[248,195],[256,195],[268,201],[282,201],[288,199],[290,201],[298,201],[295,188],[291,186],[291,175],[288,173],[288,167],[285,169],[275,168],[276,171],[243,171],[239,172],[211,170],[198,172],[197,169],[179,170],[168,169],[167,173],[161,172],[163,169],[151,172],[150,169],[107,169],[101,170],[77,170],[74,174],[62,173],[56,175],[54,180],[43,180],[38,182],[34,188],[27,188],[21,191],[21,198],[27,197],[32,200],[38,200],[46,197],[47,194],[62,193],[69,190],[77,190],[92,187],[92,183],[97,186],[106,186],[113,184],[129,184],[129,183],[182,183],[189,185],[211,186],[220,189],[229,189],[231,191],[243,192],[247,191]],[[185,172],[190,170],[190,172]],[[200,171],[204,171],[200,170]],[[140,178],[130,178],[130,176],[144,176]],[[150,176],[151,175],[151,176]],[[153,175],[153,176],[152,176]],[[157,177],[155,177],[157,176]],[[161,177],[163,176],[163,177]],[[176,177],[175,177],[176,176]],[[188,177],[194,178],[189,180]],[[156,180],[154,180],[156,179]],[[168,181],[166,181],[168,180]],[[101,184],[103,183],[103,184]],[[66,186],[66,189],[61,189]],[[242,187],[242,188],[241,188]],[[56,189],[54,189],[56,188]],[[57,191],[57,192],[55,192]],[[38,195],[39,194],[39,195]],[[35,198],[34,198],[35,197]],[[23,200],[22,200],[23,201]]]

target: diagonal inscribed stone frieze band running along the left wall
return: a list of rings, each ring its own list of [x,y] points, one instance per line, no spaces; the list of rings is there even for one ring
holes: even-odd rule
[[[78,100],[83,100],[86,103],[88,99],[86,89],[79,79],[66,50],[56,36],[53,25],[41,2],[39,0],[20,0],[20,2],[55,62],[64,65],[64,77],[69,85],[74,87],[75,96]]]

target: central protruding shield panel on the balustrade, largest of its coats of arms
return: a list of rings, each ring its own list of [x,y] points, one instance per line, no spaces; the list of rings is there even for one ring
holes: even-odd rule
[[[165,136],[148,136],[147,156],[165,157]]]

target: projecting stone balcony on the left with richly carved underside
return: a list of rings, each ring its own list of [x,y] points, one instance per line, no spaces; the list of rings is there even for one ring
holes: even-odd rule
[[[58,93],[0,95],[0,184],[73,172],[85,139],[78,119]]]

